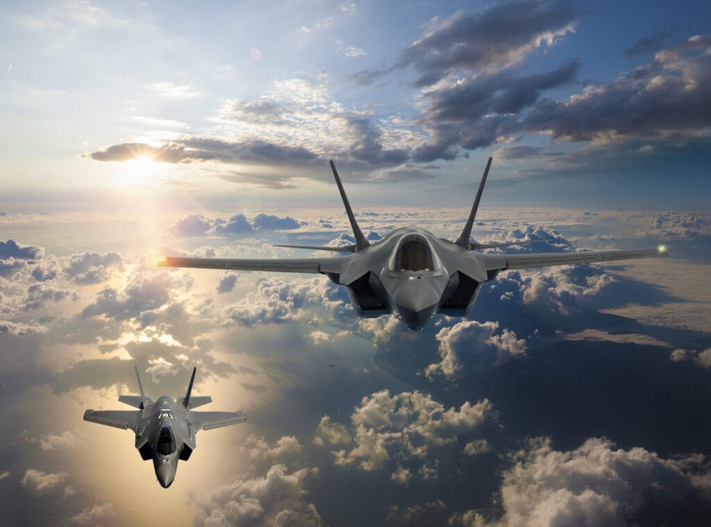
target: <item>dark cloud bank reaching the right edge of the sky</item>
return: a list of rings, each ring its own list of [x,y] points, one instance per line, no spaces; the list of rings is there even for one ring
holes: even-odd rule
[[[653,63],[611,82],[588,86],[567,101],[545,99],[522,119],[521,131],[554,139],[690,137],[709,129],[711,35],[663,50]]]

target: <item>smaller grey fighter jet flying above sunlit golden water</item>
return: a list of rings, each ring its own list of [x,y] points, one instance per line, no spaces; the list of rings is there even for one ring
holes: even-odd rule
[[[200,430],[213,430],[223,426],[245,422],[245,412],[193,412],[193,408],[212,403],[207,396],[191,398],[193,380],[197,368],[193,368],[188,393],[185,397],[166,395],[154,403],[146,397],[141,377],[136,367],[136,378],[141,395],[119,395],[119,401],[139,410],[87,410],[84,420],[100,425],[113,426],[136,433],[136,448],[144,461],[153,459],[156,477],[164,489],[173,483],[178,469],[178,459],[187,461],[196,447],[195,435]]]

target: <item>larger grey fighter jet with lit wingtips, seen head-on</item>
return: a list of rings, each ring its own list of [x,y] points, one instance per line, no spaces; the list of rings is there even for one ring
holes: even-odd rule
[[[483,254],[476,250],[533,243],[531,240],[480,244],[470,240],[481,193],[491,167],[488,159],[464,230],[456,241],[438,238],[416,227],[393,230],[382,240],[365,238],[348,203],[336,165],[331,170],[351,223],[355,245],[312,247],[279,245],[299,249],[351,253],[344,257],[232,260],[226,258],[166,257],[162,267],[199,267],[226,270],[321,273],[346,286],[358,315],[375,317],[391,313],[410,329],[422,329],[437,313],[464,316],[474,307],[481,284],[499,272],[525,267],[548,267],[584,262],[606,262],[666,256],[663,245],[636,250],[603,250],[550,254]]]

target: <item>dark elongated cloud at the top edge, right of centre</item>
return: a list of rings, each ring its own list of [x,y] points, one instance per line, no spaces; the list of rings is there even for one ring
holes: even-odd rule
[[[526,53],[572,29],[581,12],[565,0],[504,1],[480,13],[454,14],[432,21],[422,38],[402,51],[390,70],[363,72],[360,83],[389,71],[412,67],[419,87],[433,85],[456,70],[500,70],[519,63]]]

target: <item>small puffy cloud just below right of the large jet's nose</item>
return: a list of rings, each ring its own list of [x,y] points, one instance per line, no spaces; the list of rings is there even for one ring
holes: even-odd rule
[[[498,322],[474,320],[442,328],[436,336],[442,361],[427,366],[427,376],[442,373],[451,377],[463,368],[476,370],[491,364],[498,365],[526,352],[525,340],[516,338],[513,331],[497,331]]]

